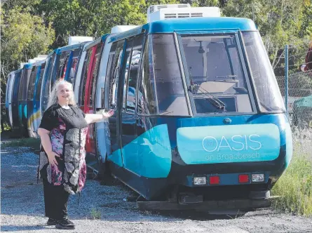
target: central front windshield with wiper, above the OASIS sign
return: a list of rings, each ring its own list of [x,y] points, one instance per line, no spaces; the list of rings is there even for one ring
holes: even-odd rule
[[[181,39],[194,113],[253,112],[236,35],[185,35]]]

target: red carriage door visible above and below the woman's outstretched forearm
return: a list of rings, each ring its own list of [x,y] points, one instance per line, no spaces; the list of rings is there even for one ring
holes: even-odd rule
[[[97,44],[92,48],[92,64],[90,62],[90,68],[88,72],[88,80],[86,82],[86,95],[85,95],[85,105],[83,112],[94,113],[95,110],[95,83],[97,79],[97,71],[99,67],[99,62],[101,58],[102,43]],[[86,138],[86,152],[91,153],[96,156],[96,146],[95,146],[95,124],[89,124],[88,134]]]

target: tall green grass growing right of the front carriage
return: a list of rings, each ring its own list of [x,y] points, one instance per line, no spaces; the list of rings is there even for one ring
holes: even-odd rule
[[[294,152],[290,166],[272,189],[280,196],[278,209],[312,217],[312,133],[294,131]]]

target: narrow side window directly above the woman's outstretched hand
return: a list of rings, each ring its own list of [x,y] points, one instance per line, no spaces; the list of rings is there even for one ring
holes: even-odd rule
[[[117,104],[117,90],[118,90],[118,78],[119,78],[119,70],[121,65],[121,56],[123,54],[123,41],[118,41],[111,46],[111,51],[109,54],[109,57],[111,57],[111,65],[108,67],[109,71],[107,72],[109,74],[109,80],[108,84],[105,86],[109,86],[109,109],[116,109]],[[116,48],[116,49],[115,49]],[[114,59],[113,59],[114,55]],[[106,82],[107,84],[107,82]]]

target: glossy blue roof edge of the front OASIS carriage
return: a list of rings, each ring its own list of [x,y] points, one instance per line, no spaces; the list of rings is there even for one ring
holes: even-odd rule
[[[159,20],[149,22],[145,25],[136,27],[127,32],[111,35],[109,42],[135,36],[142,32],[151,33],[173,33],[173,32],[203,32],[217,30],[219,32],[229,31],[257,31],[255,22],[247,18],[231,17],[206,17],[206,18],[183,18],[172,20]]]

